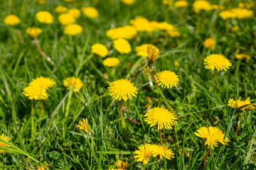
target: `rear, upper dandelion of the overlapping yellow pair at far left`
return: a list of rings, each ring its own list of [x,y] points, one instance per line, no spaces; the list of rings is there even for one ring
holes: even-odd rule
[[[41,89],[49,89],[54,84],[55,84],[55,81],[53,81],[53,79],[41,76],[41,77],[37,77],[36,79],[32,79],[29,86],[38,86]]]

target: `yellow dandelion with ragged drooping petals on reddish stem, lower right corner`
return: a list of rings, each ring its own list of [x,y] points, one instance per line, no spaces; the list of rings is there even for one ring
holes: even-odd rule
[[[218,142],[222,143],[223,145],[226,145],[229,140],[228,137],[224,139],[225,134],[222,130],[210,126],[209,128],[202,127],[195,132],[196,136],[202,137],[204,140],[206,140],[205,145],[208,145],[213,149],[213,146],[217,147]]]

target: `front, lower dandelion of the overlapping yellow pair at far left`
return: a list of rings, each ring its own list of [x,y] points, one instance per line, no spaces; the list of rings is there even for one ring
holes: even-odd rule
[[[22,94],[28,97],[30,100],[35,99],[38,100],[46,100],[48,98],[48,94],[46,94],[46,89],[42,89],[39,86],[27,86],[23,89]]]

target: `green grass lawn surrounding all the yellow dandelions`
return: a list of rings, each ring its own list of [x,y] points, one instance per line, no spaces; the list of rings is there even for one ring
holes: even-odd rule
[[[240,1],[210,1],[223,3],[226,8],[235,8]],[[80,16],[77,23],[83,28],[81,35],[63,35],[63,26],[58,23],[54,8],[62,4],[68,8],[94,6],[100,13],[95,19]],[[11,137],[11,147],[1,147],[0,169],[31,169],[39,164],[50,164],[49,169],[109,169],[117,159],[127,160],[129,169],[202,169],[208,147],[195,132],[203,126],[216,126],[230,139],[228,145],[218,144],[210,149],[206,169],[256,169],[255,109],[241,112],[228,106],[229,98],[242,97],[255,103],[255,31],[256,18],[223,21],[219,11],[196,14],[192,2],[188,8],[169,11],[158,0],[137,0],[127,6],[118,0],[75,2],[47,1],[40,6],[34,1],[2,1],[0,8],[0,135]],[[255,7],[252,8],[256,13]],[[36,21],[35,13],[49,11],[55,22],[44,25]],[[6,26],[4,17],[9,13],[21,19],[18,26]],[[112,40],[107,38],[110,28],[129,25],[135,16],[144,16],[149,21],[166,21],[177,26],[181,37],[164,36],[156,33],[139,33],[129,40],[132,52],[120,55],[114,50]],[[46,60],[25,30],[36,26],[43,30],[38,43],[55,64]],[[232,32],[231,26],[238,26]],[[20,33],[20,35],[17,34]],[[206,50],[203,41],[217,40],[214,50]],[[113,50],[120,64],[105,67],[102,58],[90,52],[90,46],[102,43]],[[165,69],[175,72],[180,82],[176,88],[161,89],[168,103],[178,115],[175,130],[164,130],[164,144],[174,152],[175,158],[151,158],[142,165],[133,158],[134,151],[144,142],[159,144],[159,131],[150,128],[143,120],[144,107],[152,102],[152,108],[167,107],[157,86],[144,71],[146,62],[136,55],[135,47],[151,43],[159,47],[156,71]],[[249,62],[236,60],[235,55],[251,55]],[[217,72],[213,91],[209,92],[213,72],[205,69],[203,60],[210,54],[223,54],[232,62],[228,72]],[[178,62],[178,65],[174,63]],[[132,67],[129,67],[132,65]],[[41,101],[33,103],[35,135],[31,137],[31,101],[23,96],[23,89],[36,77],[49,77],[56,82],[48,90],[49,98],[44,101],[43,116],[39,119]],[[77,94],[70,95],[63,80],[79,77],[85,86]],[[119,103],[108,96],[110,82],[127,78],[137,86],[137,98],[123,102],[124,120],[122,129]],[[70,106],[68,106],[70,104]],[[68,106],[68,107],[67,107]],[[68,116],[65,117],[65,114]],[[235,130],[241,116],[238,135]],[[139,123],[133,123],[129,118]],[[91,126],[89,134],[78,130],[75,125],[87,118]],[[4,142],[3,140],[0,140]],[[171,142],[171,141],[175,141]]]

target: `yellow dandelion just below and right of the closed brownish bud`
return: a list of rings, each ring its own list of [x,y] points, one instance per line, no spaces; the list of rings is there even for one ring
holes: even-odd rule
[[[175,72],[171,72],[169,70],[164,70],[163,72],[159,72],[156,74],[156,81],[159,83],[159,86],[164,88],[173,88],[178,85],[178,76]]]

